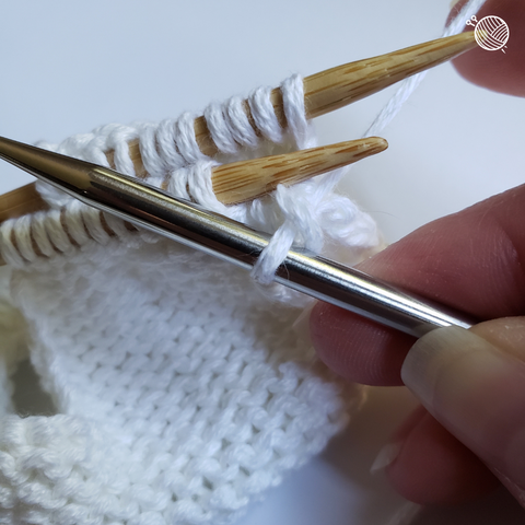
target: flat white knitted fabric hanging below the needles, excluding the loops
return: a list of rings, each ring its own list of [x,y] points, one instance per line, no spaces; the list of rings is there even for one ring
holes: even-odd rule
[[[165,240],[85,246],[14,271],[58,415],[1,421],[0,523],[222,523],[346,424],[353,387],[246,272]]]

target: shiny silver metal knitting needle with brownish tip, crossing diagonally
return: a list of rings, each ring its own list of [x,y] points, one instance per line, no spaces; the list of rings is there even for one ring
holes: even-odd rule
[[[270,236],[113,170],[0,140],[0,158],[86,205],[250,270]],[[415,337],[471,322],[359,270],[292,248],[275,280]]]

